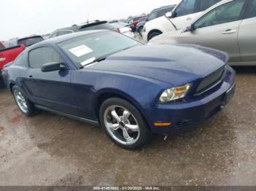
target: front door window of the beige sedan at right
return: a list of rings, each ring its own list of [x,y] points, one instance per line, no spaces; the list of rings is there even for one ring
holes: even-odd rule
[[[194,29],[241,20],[244,4],[244,0],[223,4],[197,20],[194,24]]]

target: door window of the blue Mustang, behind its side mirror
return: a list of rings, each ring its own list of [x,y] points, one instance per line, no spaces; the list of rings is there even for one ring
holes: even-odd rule
[[[61,56],[52,47],[39,47],[29,52],[29,64],[32,69],[41,69],[45,63],[63,62]]]

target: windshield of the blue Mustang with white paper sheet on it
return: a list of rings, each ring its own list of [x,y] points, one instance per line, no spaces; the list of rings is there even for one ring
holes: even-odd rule
[[[141,44],[122,34],[106,31],[79,36],[58,45],[78,67],[82,67],[115,52]]]

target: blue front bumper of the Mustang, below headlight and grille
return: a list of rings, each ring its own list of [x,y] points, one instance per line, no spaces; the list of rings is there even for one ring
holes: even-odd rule
[[[181,104],[157,105],[147,111],[148,125],[153,133],[171,134],[186,130],[194,125],[209,120],[225,108],[235,93],[236,72],[227,66],[224,82],[208,93]],[[148,114],[150,112],[151,114]],[[166,127],[156,127],[154,122],[171,122]]]

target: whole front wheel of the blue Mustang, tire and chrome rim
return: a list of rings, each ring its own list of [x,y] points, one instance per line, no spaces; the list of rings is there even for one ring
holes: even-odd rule
[[[125,149],[138,149],[151,139],[151,130],[138,109],[121,98],[104,101],[99,120],[110,139]]]

